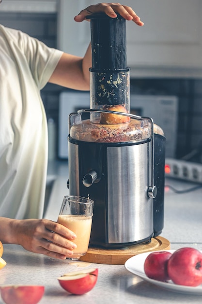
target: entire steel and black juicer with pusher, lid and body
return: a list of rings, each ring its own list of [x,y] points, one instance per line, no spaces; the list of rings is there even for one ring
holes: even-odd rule
[[[130,114],[125,19],[90,18],[90,109],[80,99],[69,115],[68,186],[94,201],[90,244],[123,248],[162,232],[165,137],[152,118]]]

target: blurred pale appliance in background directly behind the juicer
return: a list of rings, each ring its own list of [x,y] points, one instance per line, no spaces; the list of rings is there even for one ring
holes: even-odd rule
[[[90,92],[65,91],[59,99],[58,157],[68,158],[68,116],[79,109],[87,109]],[[166,157],[175,158],[178,122],[178,98],[166,95],[130,94],[130,112],[140,116],[152,117],[166,137]]]

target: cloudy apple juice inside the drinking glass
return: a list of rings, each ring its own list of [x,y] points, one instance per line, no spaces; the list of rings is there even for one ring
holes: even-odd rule
[[[58,223],[73,231],[77,236],[77,238],[74,239],[77,248],[74,249],[74,254],[71,255],[71,258],[79,258],[81,255],[84,255],[89,246],[92,217],[64,214],[59,215]]]

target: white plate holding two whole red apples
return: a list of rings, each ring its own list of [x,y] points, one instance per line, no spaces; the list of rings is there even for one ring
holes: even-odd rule
[[[173,253],[175,250],[166,250],[166,251]],[[147,255],[149,255],[150,253],[151,252],[140,253],[138,255],[132,256],[125,262],[125,268],[128,271],[132,272],[133,274],[138,275],[140,278],[144,279],[145,281],[148,281],[159,287],[163,287],[171,291],[180,292],[180,293],[202,295],[202,285],[199,285],[197,287],[189,287],[189,286],[176,285],[172,283],[172,281],[161,282],[148,278],[144,272],[144,261]]]

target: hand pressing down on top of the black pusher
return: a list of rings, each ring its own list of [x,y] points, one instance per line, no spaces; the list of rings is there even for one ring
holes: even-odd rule
[[[127,5],[122,5],[120,3],[98,3],[88,6],[86,9],[82,10],[76,17],[75,21],[81,22],[86,20],[86,16],[105,13],[111,18],[116,18],[117,13],[124,17],[126,20],[133,20],[137,25],[144,25],[140,20],[140,17],[136,15],[134,10]]]

